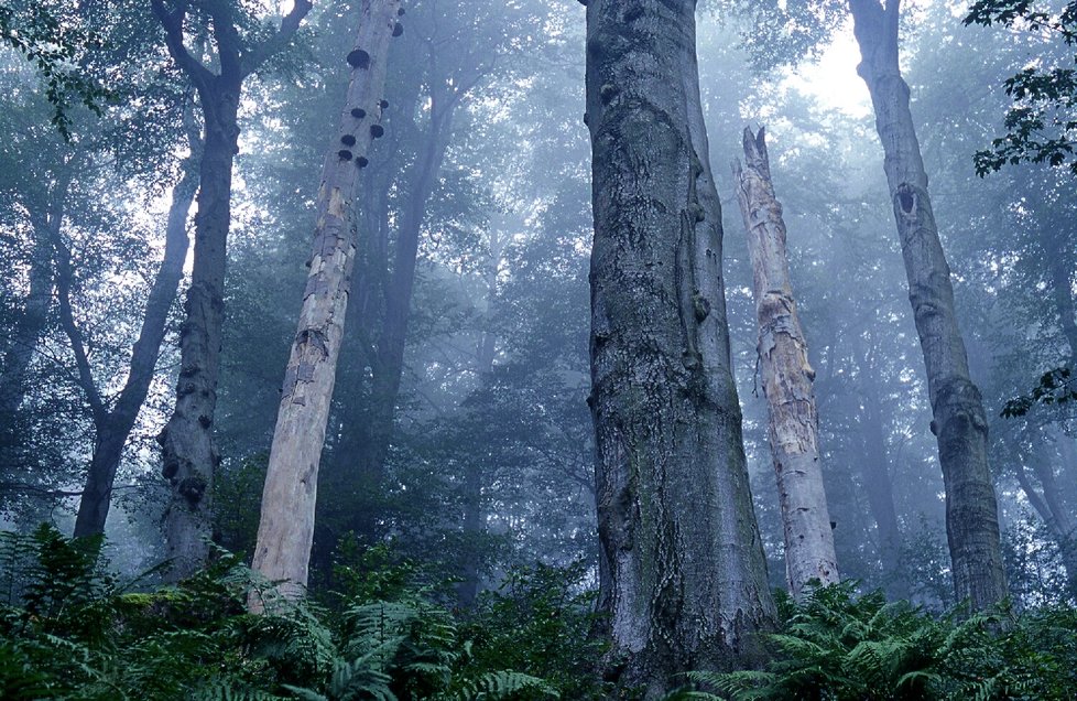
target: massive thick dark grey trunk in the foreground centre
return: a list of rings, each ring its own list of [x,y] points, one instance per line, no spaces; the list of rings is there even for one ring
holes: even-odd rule
[[[590,405],[622,686],[751,665],[774,616],[730,373],[694,0],[591,0]]]

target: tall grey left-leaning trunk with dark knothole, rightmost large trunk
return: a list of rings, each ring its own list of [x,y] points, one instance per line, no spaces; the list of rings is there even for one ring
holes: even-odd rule
[[[969,377],[968,357],[954,309],[950,270],[943,254],[927,193],[927,174],[909,109],[909,85],[898,65],[900,0],[849,0],[853,32],[868,85],[875,129],[885,152],[898,236],[920,335],[932,432],[946,488],[946,533],[958,601],[975,610],[1007,594],[999,544],[994,485],[987,463],[987,416]]]

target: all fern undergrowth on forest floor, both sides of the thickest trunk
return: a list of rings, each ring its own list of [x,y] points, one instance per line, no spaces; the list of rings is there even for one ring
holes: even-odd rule
[[[470,611],[421,568],[371,549],[338,591],[248,613],[266,586],[225,551],[175,585],[134,591],[100,539],[0,533],[0,698],[410,701],[603,699],[583,565],[512,570]],[[372,567],[372,563],[376,567]],[[1071,699],[1077,612],[936,617],[845,583],[781,601],[761,670],[686,675],[666,701]]]

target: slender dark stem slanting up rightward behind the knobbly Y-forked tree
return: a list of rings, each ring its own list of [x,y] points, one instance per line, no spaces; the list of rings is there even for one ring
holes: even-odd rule
[[[138,341],[131,350],[131,363],[127,381],[120,390],[116,406],[95,420],[96,440],[94,454],[83,496],[75,518],[75,536],[90,536],[105,531],[111,504],[112,484],[116,471],[123,456],[123,446],[134,428],[142,405],[145,402],[156,368],[157,355],[164,342],[168,311],[176,299],[176,290],[183,278],[183,263],[187,257],[187,217],[198,188],[197,164],[200,143],[197,136],[191,139],[192,154],[184,160],[180,182],[172,190],[172,204],[168,208],[165,227],[164,258],[150,288],[142,317]],[[80,343],[74,326],[66,328],[72,344]],[[90,396],[97,390],[83,387]]]

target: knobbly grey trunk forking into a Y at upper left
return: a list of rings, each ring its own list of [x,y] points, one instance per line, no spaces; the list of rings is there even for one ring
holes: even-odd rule
[[[161,472],[172,486],[164,518],[172,561],[167,576],[180,580],[193,574],[209,553],[213,481],[220,460],[213,424],[220,374],[232,160],[239,151],[240,95],[247,76],[287,46],[312,4],[309,0],[295,0],[273,34],[248,46],[239,36],[228,3],[199,3],[211,20],[216,73],[184,45],[191,0],[151,0],[151,6],[164,28],[168,53],[198,91],[205,122],[194,262],[180,332],[175,408],[157,436]]]

